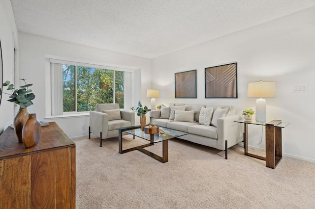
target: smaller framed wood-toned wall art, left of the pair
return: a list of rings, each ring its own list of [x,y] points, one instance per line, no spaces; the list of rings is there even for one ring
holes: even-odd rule
[[[197,98],[197,70],[175,73],[175,98]]]

